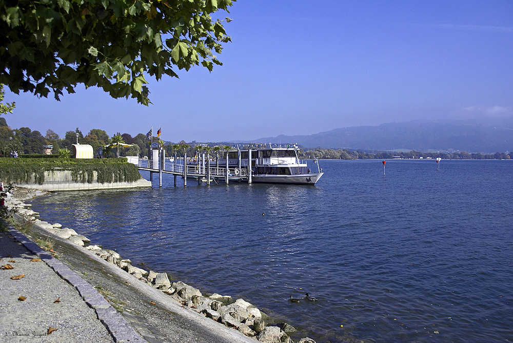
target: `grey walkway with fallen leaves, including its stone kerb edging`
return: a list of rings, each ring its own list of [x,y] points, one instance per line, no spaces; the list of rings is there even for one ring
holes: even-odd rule
[[[91,285],[13,228],[0,233],[0,267],[0,342],[145,341]]]

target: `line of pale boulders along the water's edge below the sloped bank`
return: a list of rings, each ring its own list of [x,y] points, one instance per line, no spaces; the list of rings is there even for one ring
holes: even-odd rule
[[[23,194],[24,191],[20,192]],[[18,193],[18,192],[16,192]],[[42,191],[30,190],[22,199],[48,194]],[[32,196],[31,196],[32,195]],[[166,273],[156,273],[132,266],[130,259],[123,258],[113,250],[103,249],[101,246],[91,245],[91,241],[70,228],[63,228],[61,224],[50,224],[40,219],[40,214],[31,209],[30,204],[11,197],[7,201],[10,210],[28,220],[30,223],[41,227],[49,233],[69,240],[71,243],[83,247],[94,253],[109,264],[116,266],[128,274],[131,274],[142,283],[148,284],[160,290],[163,294],[179,302],[183,308],[201,313],[216,322],[238,330],[242,334],[257,339],[264,343],[292,343],[290,334],[296,330],[289,324],[270,324],[272,320],[257,307],[243,299],[233,300],[231,296],[220,294],[202,294],[199,289],[169,279]],[[268,325],[269,324],[269,325]],[[309,337],[301,338],[297,343],[315,343]]]

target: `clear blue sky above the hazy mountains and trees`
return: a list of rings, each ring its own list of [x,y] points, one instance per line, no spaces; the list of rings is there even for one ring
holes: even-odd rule
[[[513,116],[510,0],[239,0],[221,16],[224,65],[151,81],[153,105],[83,86],[61,102],[7,92],[8,124],[217,142]]]

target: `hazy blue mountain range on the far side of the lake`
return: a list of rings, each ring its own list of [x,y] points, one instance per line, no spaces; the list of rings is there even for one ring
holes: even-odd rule
[[[260,143],[297,143],[304,148],[505,152],[513,150],[513,119],[477,123],[412,120],[379,126],[357,126],[306,135],[264,137]]]

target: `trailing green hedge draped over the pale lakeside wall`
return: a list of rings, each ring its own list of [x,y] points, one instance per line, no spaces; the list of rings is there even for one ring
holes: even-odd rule
[[[99,183],[133,182],[142,176],[133,164],[122,158],[59,159],[59,158],[0,158],[0,180],[4,183],[28,183],[32,175],[42,185],[45,171],[70,170],[75,182],[92,183],[96,171]]]

